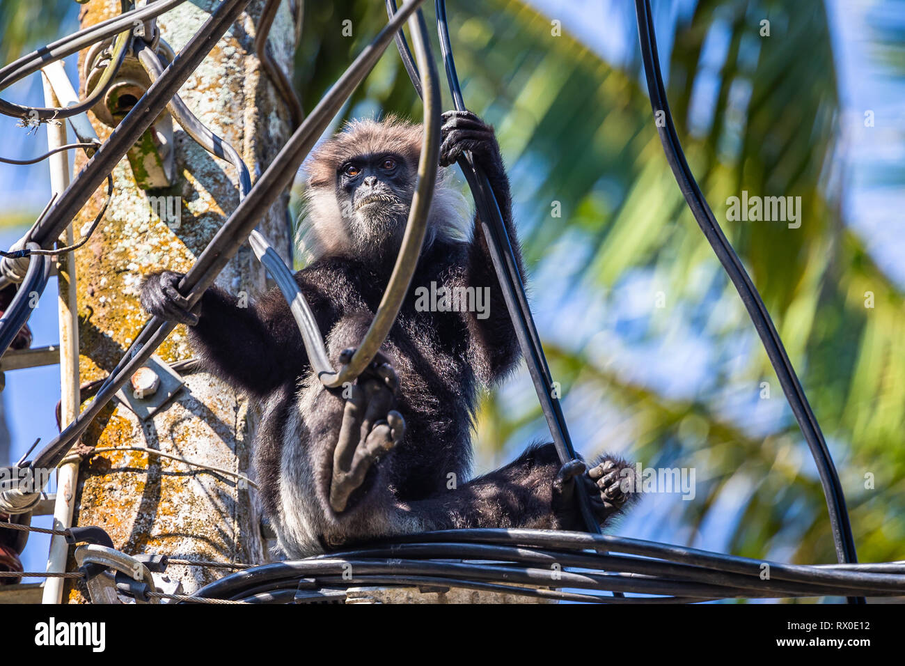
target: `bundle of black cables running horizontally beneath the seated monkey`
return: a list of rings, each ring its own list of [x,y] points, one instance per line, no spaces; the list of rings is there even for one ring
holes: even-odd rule
[[[765,565],[769,567],[766,579],[762,578]],[[352,579],[343,575],[349,567]],[[526,584],[532,587],[513,587]],[[353,585],[449,586],[595,603],[886,597],[905,592],[905,563],[787,565],[618,536],[456,529],[396,536],[341,553],[243,569],[196,595],[234,600],[294,589],[316,595]],[[613,599],[545,589],[551,587],[655,596]]]

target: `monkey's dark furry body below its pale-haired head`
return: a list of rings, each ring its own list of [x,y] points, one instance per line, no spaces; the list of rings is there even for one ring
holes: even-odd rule
[[[348,132],[339,136],[348,140]],[[482,161],[515,242],[509,181],[495,141],[485,150],[461,142],[466,145],[460,150],[473,150]],[[324,172],[329,175],[326,168],[316,171],[321,178]],[[339,367],[339,353],[355,347],[373,319],[398,243],[375,241],[367,252],[354,243],[326,245],[322,256],[295,277],[317,316],[330,361]],[[432,283],[490,287],[489,316],[419,312],[414,290]],[[146,285],[142,301],[153,312],[152,292]],[[382,348],[399,378],[395,410],[405,417],[405,437],[370,469],[341,513],[331,509],[329,489],[345,401],[339,391],[324,389],[311,372],[279,291],[241,308],[232,295],[212,288],[189,332],[206,367],[259,403],[256,479],[285,555],[311,555],[368,537],[430,529],[579,528],[571,501],[557,506],[560,465],[552,444],[529,448],[510,465],[465,482],[479,391],[503,379],[519,361],[515,332],[480,231],[472,240],[462,240],[434,228],[425,243]],[[601,522],[619,507],[601,509]]]

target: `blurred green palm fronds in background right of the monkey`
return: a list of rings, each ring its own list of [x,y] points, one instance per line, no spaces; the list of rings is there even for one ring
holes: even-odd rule
[[[376,33],[383,19],[376,5],[310,8],[296,74],[306,108]],[[425,11],[430,24],[433,10]],[[601,349],[593,334],[604,322],[569,319],[573,339],[548,338],[547,348],[566,387],[567,413],[578,415],[573,435],[579,448],[590,455],[610,447],[614,432],[595,428],[594,416],[617,410],[619,437],[629,442],[626,456],[647,466],[698,468],[698,497],[678,503],[667,540],[684,535],[693,541],[710,512],[720,510],[721,494],[733,493],[744,501],[729,525],[729,552],[834,561],[823,493],[790,411],[774,405],[768,418],[746,422],[746,405],[757,410],[762,381],[773,391],[770,401],[784,398],[738,294],[685,209],[637,65],[630,72],[616,69],[567,34],[552,36],[549,19],[519,2],[451,0],[449,15],[465,99],[495,124],[510,165],[533,273],[548,275],[548,265],[560,262],[554,275],[567,276],[535,282],[536,300],[586,299],[588,313],[601,299],[616,308],[636,297],[624,286],[626,275],[647,275],[668,285],[668,305],[658,314],[652,294],[652,312],[628,322],[626,347],[653,343],[656,350],[676,334],[670,319],[681,319],[689,324],[686,335],[717,350],[710,381],[677,395],[662,382],[624,372],[620,350]],[[768,38],[758,34],[764,17]],[[344,19],[355,26],[351,39],[341,35]],[[824,3],[700,0],[675,21],[672,58],[662,65],[683,146],[718,219],[726,217],[723,202],[741,190],[801,197],[800,228],[728,222],[724,229],[763,294],[831,442],[862,560],[899,559],[905,543],[905,310],[900,288],[841,218],[839,102]],[[900,50],[900,40],[892,41]],[[381,61],[346,115],[381,111],[421,115],[395,53]],[[562,217],[550,216],[553,201],[561,203]],[[564,239],[565,263],[557,254]],[[874,294],[872,309],[865,307],[866,292]],[[551,328],[539,317],[538,326]],[[681,345],[676,349],[681,354]],[[659,362],[657,352],[645,358],[649,365]],[[509,451],[532,435],[543,437],[527,381],[516,381],[520,388],[504,387],[484,402],[481,446]],[[866,473],[875,476],[876,489],[865,489]]]

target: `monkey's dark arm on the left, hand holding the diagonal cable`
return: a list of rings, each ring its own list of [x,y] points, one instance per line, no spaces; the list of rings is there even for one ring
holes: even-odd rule
[[[237,388],[266,395],[298,372],[308,357],[280,294],[264,294],[252,304],[209,288],[194,312],[176,285],[182,274],[172,271],[148,275],[141,287],[141,304],[150,314],[188,326],[193,350],[208,371]]]

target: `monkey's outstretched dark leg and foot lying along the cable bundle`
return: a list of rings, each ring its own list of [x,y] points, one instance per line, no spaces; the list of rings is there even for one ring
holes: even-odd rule
[[[560,467],[552,444],[531,447],[504,468],[461,487],[442,490],[411,503],[430,529],[530,527],[582,530],[576,483],[586,485],[591,506],[603,526],[636,495],[633,469],[619,458],[603,456],[585,474],[585,463]],[[626,490],[624,490],[624,488]]]

